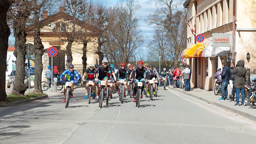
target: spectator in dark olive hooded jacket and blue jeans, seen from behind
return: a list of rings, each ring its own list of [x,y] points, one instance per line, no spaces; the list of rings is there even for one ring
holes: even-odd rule
[[[239,93],[242,95],[241,105],[244,105],[244,80],[246,77],[246,68],[244,68],[244,60],[237,61],[238,68],[234,68],[233,75],[236,75],[234,80],[234,87],[236,88],[236,104],[239,106]]]

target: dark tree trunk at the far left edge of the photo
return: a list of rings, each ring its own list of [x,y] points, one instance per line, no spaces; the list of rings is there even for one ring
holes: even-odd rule
[[[5,92],[5,72],[6,59],[8,49],[8,37],[11,34],[10,28],[7,24],[7,12],[13,0],[0,0],[0,101],[6,100],[7,94]]]

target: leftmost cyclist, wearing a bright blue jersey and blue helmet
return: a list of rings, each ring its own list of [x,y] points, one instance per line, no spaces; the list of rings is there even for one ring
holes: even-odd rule
[[[68,65],[68,69],[66,69],[61,75],[60,75],[60,82],[62,83],[62,77],[65,75],[65,82],[74,82],[74,84],[77,84],[77,80],[79,80],[79,76],[78,73],[74,70],[74,65],[73,64],[69,64]],[[75,81],[75,76],[76,76],[76,81]],[[74,84],[71,84],[71,90],[70,90],[70,97],[73,97],[73,91],[74,91]],[[64,88],[64,99],[62,100],[62,102],[66,102],[65,100],[65,93],[66,93],[66,89]]]

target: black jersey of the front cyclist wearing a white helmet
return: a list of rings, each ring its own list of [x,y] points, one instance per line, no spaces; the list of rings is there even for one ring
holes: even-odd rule
[[[94,76],[96,76],[96,73],[98,73],[99,80],[103,80],[104,77],[108,77],[108,80],[110,80],[111,74],[109,72],[111,72],[112,74],[114,73],[114,71],[111,71],[111,67],[109,65],[106,68],[104,68],[103,65],[100,65],[98,68],[95,69]]]

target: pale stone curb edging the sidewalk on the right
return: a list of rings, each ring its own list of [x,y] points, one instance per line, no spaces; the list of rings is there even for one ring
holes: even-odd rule
[[[227,107],[227,106],[225,106],[225,105],[223,105],[223,104],[219,104],[219,103],[216,103],[216,102],[212,102],[212,101],[206,100],[206,99],[204,99],[204,98],[202,98],[202,97],[200,97],[200,96],[195,96],[195,95],[192,95],[192,94],[187,93],[187,92],[183,92],[183,91],[176,90],[176,88],[171,88],[171,87],[168,87],[168,88],[170,88],[170,89],[172,89],[172,90],[175,90],[175,91],[177,91],[177,92],[183,93],[184,95],[192,96],[192,97],[194,97],[194,98],[196,98],[196,99],[198,99],[198,100],[202,100],[202,101],[204,101],[204,102],[206,102],[206,103],[208,103],[208,104],[215,105],[215,106],[217,106],[217,107],[219,107],[219,108],[226,109],[226,110],[228,110],[229,112],[234,112],[234,113],[236,113],[236,114],[238,114],[238,115],[240,115],[240,116],[243,116],[243,117],[245,117],[245,118],[247,118],[247,119],[256,121],[256,116],[253,116],[253,115],[251,115],[251,114],[249,114],[249,113],[245,113],[245,112],[243,112],[243,111],[240,111],[240,110],[237,110],[237,109],[234,109],[234,108],[229,108],[229,107]]]

